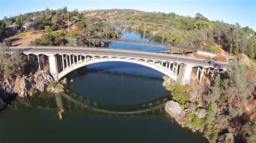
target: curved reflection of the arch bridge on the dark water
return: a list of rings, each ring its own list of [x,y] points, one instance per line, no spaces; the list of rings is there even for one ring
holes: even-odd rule
[[[18,111],[20,108],[39,108],[58,111],[59,108],[67,108],[72,112],[92,112],[98,115],[116,116],[155,116],[156,112],[163,110],[167,96],[150,102],[136,105],[107,105],[92,99],[85,98],[76,92],[67,89],[59,94],[44,92],[30,98],[18,98],[12,102],[12,106]]]

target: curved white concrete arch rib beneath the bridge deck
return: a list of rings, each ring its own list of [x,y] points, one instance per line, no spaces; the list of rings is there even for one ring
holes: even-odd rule
[[[142,65],[142,66],[146,66],[149,68],[152,68],[154,70],[159,71],[160,73],[163,73],[164,75],[172,78],[172,80],[176,81],[177,80],[177,75],[175,75],[174,73],[168,71],[167,69],[161,68],[157,65],[153,65],[152,63],[148,63],[145,61],[139,61],[136,59],[118,59],[118,58],[108,58],[108,59],[93,59],[93,60],[84,60],[83,62],[79,62],[75,65],[72,65],[71,67],[67,67],[65,68],[63,71],[61,71],[58,75],[57,78],[58,80],[60,80],[61,78],[63,78],[65,75],[71,73],[71,71],[76,70],[78,68],[87,66],[87,65],[91,65],[93,63],[100,63],[100,62],[110,62],[110,61],[121,61],[121,62],[130,62],[130,63],[136,63],[138,65]]]

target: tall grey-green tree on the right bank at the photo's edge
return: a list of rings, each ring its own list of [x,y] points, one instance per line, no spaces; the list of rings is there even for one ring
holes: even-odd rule
[[[247,98],[256,87],[255,78],[246,74],[246,65],[242,59],[233,59],[227,74],[229,83],[225,87],[230,117],[240,116],[243,104],[247,103]]]

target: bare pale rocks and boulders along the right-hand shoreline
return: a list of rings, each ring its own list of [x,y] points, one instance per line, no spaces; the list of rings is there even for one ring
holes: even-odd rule
[[[164,76],[163,86],[166,90],[171,91],[172,79]],[[192,83],[193,84],[193,83]],[[192,85],[194,90],[200,91],[202,89],[197,89],[196,85]],[[201,91],[204,92],[204,91]],[[197,92],[191,91],[192,98],[187,101],[187,105],[180,104],[175,98],[171,98],[165,104],[165,111],[174,118],[181,127],[189,128],[192,132],[205,132],[204,126],[200,125],[208,114],[208,111],[205,107],[200,106],[198,102],[194,99],[198,99],[200,94]],[[193,95],[194,94],[194,95]],[[211,125],[210,125],[211,126]],[[234,142],[234,136],[232,133],[226,133],[219,135],[219,141],[224,142]]]

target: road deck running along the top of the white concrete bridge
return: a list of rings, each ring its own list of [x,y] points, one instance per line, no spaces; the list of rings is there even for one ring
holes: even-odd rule
[[[174,55],[166,53],[153,53],[142,51],[127,51],[123,49],[107,49],[107,48],[85,48],[85,47],[10,47],[10,52],[28,52],[28,53],[53,53],[53,54],[94,54],[94,55],[111,55],[111,56],[129,56],[131,58],[146,58],[152,60],[165,60],[174,62],[191,63],[198,66],[209,66],[204,59],[190,58],[185,55]],[[227,68],[228,64],[224,62],[216,62],[223,68]]]

